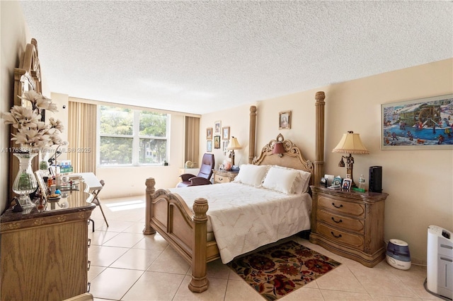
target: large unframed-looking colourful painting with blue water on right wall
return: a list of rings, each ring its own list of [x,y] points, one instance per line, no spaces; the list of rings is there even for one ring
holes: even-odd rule
[[[381,105],[381,149],[453,149],[453,94]]]

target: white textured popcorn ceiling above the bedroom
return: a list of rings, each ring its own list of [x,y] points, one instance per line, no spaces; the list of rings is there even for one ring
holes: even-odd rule
[[[21,1],[50,90],[203,114],[453,57],[453,1]]]

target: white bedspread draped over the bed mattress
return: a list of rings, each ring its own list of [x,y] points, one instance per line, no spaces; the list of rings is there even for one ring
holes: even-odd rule
[[[195,199],[207,199],[208,231],[211,225],[224,264],[265,244],[310,229],[309,194],[288,195],[239,183],[168,190],[179,194],[189,208]]]

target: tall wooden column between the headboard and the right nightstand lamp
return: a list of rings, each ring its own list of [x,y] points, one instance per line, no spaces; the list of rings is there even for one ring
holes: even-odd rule
[[[315,153],[316,161],[314,161],[314,184],[319,185],[321,177],[323,177],[324,165],[324,99],[326,95],[323,91],[316,92],[316,137],[315,137]]]

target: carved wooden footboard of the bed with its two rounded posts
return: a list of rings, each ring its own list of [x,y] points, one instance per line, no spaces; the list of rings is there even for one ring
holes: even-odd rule
[[[178,194],[155,189],[155,180],[147,179],[145,235],[159,232],[192,266],[189,289],[195,293],[207,290],[206,264],[220,258],[215,241],[207,242],[206,199],[196,199],[193,211]]]

